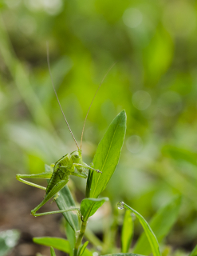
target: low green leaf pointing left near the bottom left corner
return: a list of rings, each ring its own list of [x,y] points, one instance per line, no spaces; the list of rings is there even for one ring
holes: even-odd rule
[[[64,251],[67,254],[70,252],[69,241],[65,240],[64,238],[33,238],[33,242],[36,242],[42,246],[53,246],[53,248]]]

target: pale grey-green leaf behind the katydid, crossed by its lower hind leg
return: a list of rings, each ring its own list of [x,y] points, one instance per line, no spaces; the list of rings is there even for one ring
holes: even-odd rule
[[[50,167],[45,165],[45,171],[49,171],[49,170],[50,170]],[[60,195],[55,200],[55,202],[57,203],[57,206],[60,210],[65,210],[70,207],[76,207],[75,202],[73,200],[73,196],[70,193],[68,186],[63,187],[63,189],[61,189],[59,193]],[[69,222],[69,225],[72,227],[74,231],[79,230],[79,220],[78,220],[77,212],[69,211],[62,214],[65,217],[66,221]]]

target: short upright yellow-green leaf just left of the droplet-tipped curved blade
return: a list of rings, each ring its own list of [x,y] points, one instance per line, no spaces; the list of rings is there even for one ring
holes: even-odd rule
[[[124,214],[124,222],[121,233],[121,251],[122,253],[128,253],[129,247],[132,242],[133,235],[133,223],[130,210],[126,210]]]

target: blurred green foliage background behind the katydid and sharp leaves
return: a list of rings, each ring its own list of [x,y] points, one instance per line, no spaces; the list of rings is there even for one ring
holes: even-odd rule
[[[167,244],[191,250],[197,243],[197,2],[5,0],[0,11],[2,229],[11,228],[6,212],[15,216],[18,209],[25,218],[20,200],[29,200],[31,210],[42,198],[31,204],[26,191],[36,200],[36,189],[19,184],[15,174],[40,173],[45,163],[77,150],[49,78],[49,42],[53,81],[78,142],[97,86],[116,62],[85,125],[85,162],[125,109],[124,149],[103,195],[112,208],[121,200],[148,220],[182,194]],[[81,201],[85,181],[73,181]],[[94,229],[102,233],[99,225]]]

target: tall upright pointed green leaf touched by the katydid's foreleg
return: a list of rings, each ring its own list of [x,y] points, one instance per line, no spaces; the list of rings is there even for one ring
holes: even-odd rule
[[[112,121],[97,147],[93,165],[94,168],[102,171],[102,174],[89,171],[86,198],[97,198],[107,186],[119,161],[125,132],[126,113],[123,110]]]

